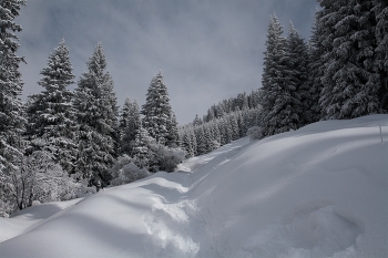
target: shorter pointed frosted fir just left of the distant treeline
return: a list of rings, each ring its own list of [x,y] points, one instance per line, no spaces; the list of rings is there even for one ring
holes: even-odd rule
[[[174,126],[174,122],[172,122],[167,86],[161,72],[151,81],[141,113],[144,115],[143,126],[150,136],[161,144],[169,145],[172,141],[169,138],[169,126]]]

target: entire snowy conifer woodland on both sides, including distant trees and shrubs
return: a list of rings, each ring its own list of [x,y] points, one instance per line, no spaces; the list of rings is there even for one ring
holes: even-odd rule
[[[384,0],[318,0],[312,37],[269,20],[262,85],[177,126],[159,72],[146,102],[118,106],[101,43],[76,81],[62,40],[42,68],[42,90],[20,100],[17,55],[24,0],[0,0],[0,215],[94,193],[246,136],[263,138],[320,120],[388,111],[388,7]]]

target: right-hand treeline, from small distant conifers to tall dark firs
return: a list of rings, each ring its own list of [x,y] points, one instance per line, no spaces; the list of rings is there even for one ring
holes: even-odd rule
[[[261,91],[224,100],[182,126],[187,157],[245,136],[249,127],[252,138],[263,138],[320,120],[388,112],[387,1],[318,3],[308,42],[293,23],[285,37],[270,17]]]

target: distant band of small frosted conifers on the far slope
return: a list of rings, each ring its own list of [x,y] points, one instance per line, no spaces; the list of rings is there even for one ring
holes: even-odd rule
[[[207,114],[193,123],[180,127],[181,147],[186,157],[203,155],[244,137],[248,128],[259,124],[261,91],[241,93],[212,105]]]

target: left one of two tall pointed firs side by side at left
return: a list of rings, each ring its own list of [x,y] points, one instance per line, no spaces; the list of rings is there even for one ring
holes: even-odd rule
[[[30,97],[27,134],[31,141],[44,137],[48,146],[35,145],[32,141],[33,151],[44,148],[53,152],[54,162],[70,174],[76,158],[78,126],[72,106],[73,93],[68,90],[74,75],[64,40],[49,55],[48,66],[42,69],[41,74],[43,78],[38,84],[44,90]]]

